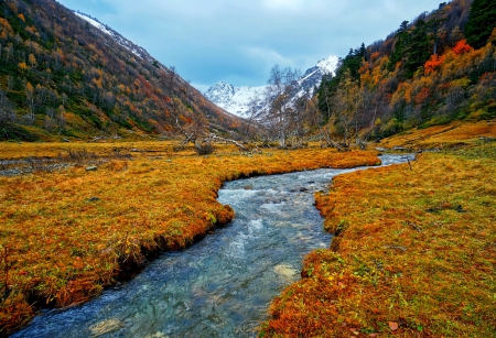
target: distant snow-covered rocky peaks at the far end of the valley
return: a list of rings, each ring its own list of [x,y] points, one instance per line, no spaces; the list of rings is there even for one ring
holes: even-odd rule
[[[303,76],[298,79],[300,90],[294,94],[294,98],[300,98],[303,95],[312,96],[314,88],[319,87],[324,74],[334,74],[337,67],[338,57],[331,55],[327,58],[319,61],[319,63],[308,69]],[[263,107],[263,96],[267,86],[258,87],[235,87],[233,85],[220,81],[211,88],[208,88],[204,96],[217,105],[218,107],[227,110],[228,112],[241,118],[248,118],[250,116],[250,106],[254,106],[260,110]]]

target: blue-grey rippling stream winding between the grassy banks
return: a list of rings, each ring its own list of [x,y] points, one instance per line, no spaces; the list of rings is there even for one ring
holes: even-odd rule
[[[406,160],[381,157],[382,165]],[[363,168],[228,182],[218,193],[236,212],[228,227],[162,254],[129,283],[82,306],[44,310],[12,337],[255,337],[270,301],[300,279],[304,255],[330,246],[314,193]]]

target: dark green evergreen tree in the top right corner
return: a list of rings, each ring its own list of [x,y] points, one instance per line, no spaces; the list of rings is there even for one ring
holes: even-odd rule
[[[467,42],[474,48],[483,47],[496,26],[496,3],[494,0],[474,0],[465,28]]]

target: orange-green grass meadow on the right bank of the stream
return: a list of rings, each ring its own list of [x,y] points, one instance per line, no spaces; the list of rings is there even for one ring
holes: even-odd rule
[[[355,172],[260,337],[496,337],[496,144]]]

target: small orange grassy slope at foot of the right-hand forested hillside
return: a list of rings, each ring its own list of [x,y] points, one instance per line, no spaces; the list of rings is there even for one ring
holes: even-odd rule
[[[380,146],[416,148],[416,149],[450,149],[461,143],[471,144],[478,138],[496,138],[496,121],[460,122],[448,126],[434,126],[425,129],[413,129],[400,134],[384,139]]]

